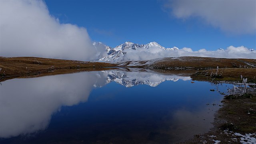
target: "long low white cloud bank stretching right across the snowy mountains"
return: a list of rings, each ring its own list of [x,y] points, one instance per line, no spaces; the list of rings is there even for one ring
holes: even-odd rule
[[[161,57],[181,57],[181,56],[198,56],[198,57],[218,57],[218,58],[246,58],[246,59],[256,59],[256,51],[251,51],[250,49],[240,46],[234,47],[230,46],[226,49],[219,49],[217,51],[207,51],[206,49],[200,49],[198,51],[193,51],[191,48],[184,47],[182,49],[169,51],[164,50],[160,47],[150,47],[149,49],[125,49],[126,54],[117,59],[118,61],[140,61],[140,60],[150,60]]]

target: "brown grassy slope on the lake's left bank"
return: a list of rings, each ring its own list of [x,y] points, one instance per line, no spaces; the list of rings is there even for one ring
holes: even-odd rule
[[[115,67],[112,63],[84,62],[40,57],[0,57],[1,81],[12,77],[72,73],[77,71],[96,71]],[[56,71],[55,73],[46,73]]]

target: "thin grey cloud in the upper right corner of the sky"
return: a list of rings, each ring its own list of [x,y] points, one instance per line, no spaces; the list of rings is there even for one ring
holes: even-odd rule
[[[169,0],[164,6],[176,18],[202,18],[232,34],[256,33],[255,0]]]

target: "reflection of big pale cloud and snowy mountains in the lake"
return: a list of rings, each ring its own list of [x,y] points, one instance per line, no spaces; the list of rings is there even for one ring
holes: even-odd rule
[[[46,77],[11,79],[0,86],[0,137],[9,138],[45,130],[52,114],[62,106],[86,102],[94,87],[116,82],[125,87],[190,77],[139,71],[92,71]]]

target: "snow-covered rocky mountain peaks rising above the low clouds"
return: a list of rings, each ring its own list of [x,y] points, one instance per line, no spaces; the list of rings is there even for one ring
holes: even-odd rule
[[[168,51],[173,51],[173,50],[178,50],[178,47],[172,47],[172,48],[165,48],[158,44],[157,42],[153,41],[147,44],[137,44],[137,43],[132,43],[132,42],[125,42],[122,43],[121,45],[118,45],[114,48],[111,48],[107,45],[104,45],[102,43],[93,43],[95,47],[105,47],[108,56],[100,58],[98,61],[129,61],[130,59],[125,57],[126,52],[125,50],[127,49],[133,49],[133,50],[140,50],[140,49],[154,49],[154,48],[160,48],[163,50],[168,50]]]

